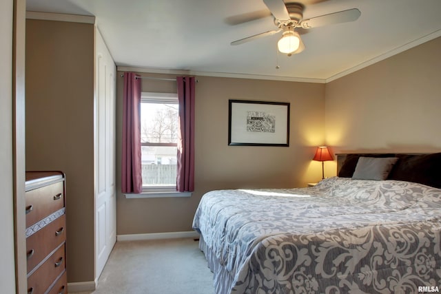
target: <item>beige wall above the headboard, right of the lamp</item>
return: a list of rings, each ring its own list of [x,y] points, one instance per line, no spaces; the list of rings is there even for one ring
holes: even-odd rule
[[[345,151],[441,151],[441,38],[326,85],[326,143]]]

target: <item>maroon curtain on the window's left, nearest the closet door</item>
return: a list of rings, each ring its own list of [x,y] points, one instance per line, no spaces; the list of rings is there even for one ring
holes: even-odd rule
[[[124,73],[123,154],[121,190],[141,193],[141,79],[132,72]]]

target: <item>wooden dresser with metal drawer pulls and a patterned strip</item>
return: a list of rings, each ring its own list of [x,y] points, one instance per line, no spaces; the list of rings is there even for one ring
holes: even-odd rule
[[[26,172],[25,198],[28,294],[68,293],[65,175]]]

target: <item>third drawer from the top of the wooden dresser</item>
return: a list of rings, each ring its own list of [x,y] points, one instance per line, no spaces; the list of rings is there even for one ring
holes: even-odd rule
[[[50,255],[37,271],[28,275],[28,293],[44,293],[63,271],[65,271],[65,244]]]

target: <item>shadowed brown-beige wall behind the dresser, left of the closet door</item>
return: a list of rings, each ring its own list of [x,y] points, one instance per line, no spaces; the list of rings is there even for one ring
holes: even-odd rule
[[[68,282],[93,281],[94,25],[26,24],[26,169],[65,172]]]

